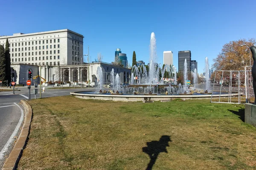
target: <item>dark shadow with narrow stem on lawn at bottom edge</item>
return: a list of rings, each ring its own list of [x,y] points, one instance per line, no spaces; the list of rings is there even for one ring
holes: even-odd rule
[[[163,135],[159,141],[147,142],[147,147],[142,148],[142,151],[147,153],[150,158],[150,162],[148,163],[146,170],[152,170],[152,167],[155,164],[159,153],[167,153],[166,147],[169,146],[169,142],[172,142],[170,136]]]

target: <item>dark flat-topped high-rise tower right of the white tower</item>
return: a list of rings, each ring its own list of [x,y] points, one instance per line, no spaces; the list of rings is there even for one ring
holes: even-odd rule
[[[184,71],[185,59],[187,61],[188,72],[191,71],[191,51],[179,51],[178,53],[179,73]]]

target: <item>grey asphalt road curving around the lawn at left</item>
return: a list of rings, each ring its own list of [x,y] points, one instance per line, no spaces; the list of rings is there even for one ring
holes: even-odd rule
[[[27,87],[15,88],[15,94],[12,91],[0,92],[0,153],[3,153],[3,148],[6,142],[12,136],[18,122],[21,117],[21,109],[19,102],[21,99],[29,98],[29,89]],[[54,89],[46,88],[42,91],[42,98],[53,97],[53,96],[67,96],[70,92],[75,91],[93,91],[93,89],[88,88],[71,88],[71,89]],[[35,99],[34,88],[30,89],[31,99]],[[40,88],[38,87],[38,94],[36,98],[40,97]],[[2,162],[3,163],[3,162]],[[1,154],[0,154],[0,168],[1,168]]]

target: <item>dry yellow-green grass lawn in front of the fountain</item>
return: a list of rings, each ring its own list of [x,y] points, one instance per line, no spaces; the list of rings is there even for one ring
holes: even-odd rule
[[[255,170],[256,128],[244,105],[209,100],[30,100],[34,113],[18,169]]]

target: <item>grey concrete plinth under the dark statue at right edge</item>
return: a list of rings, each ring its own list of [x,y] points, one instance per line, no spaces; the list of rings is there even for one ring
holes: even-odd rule
[[[256,105],[245,103],[244,122],[256,127]]]

